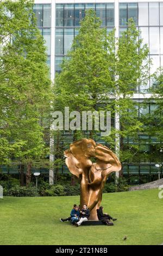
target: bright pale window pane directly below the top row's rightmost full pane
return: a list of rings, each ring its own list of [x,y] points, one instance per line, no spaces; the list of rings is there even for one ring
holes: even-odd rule
[[[160,53],[159,27],[149,27],[149,52]]]

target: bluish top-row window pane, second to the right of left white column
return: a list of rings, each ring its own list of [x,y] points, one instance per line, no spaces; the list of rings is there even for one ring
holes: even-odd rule
[[[64,26],[74,26],[74,5],[65,4],[64,9]]]

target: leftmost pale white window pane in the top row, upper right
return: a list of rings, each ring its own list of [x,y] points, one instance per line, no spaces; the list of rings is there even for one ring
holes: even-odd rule
[[[139,4],[139,26],[148,26],[148,3]]]

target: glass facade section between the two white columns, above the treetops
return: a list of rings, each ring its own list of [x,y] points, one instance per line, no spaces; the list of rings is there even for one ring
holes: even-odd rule
[[[114,3],[76,3],[55,5],[55,72],[60,72],[62,59],[71,49],[74,36],[78,34],[85,10],[96,10],[102,27],[109,32],[114,28]]]

